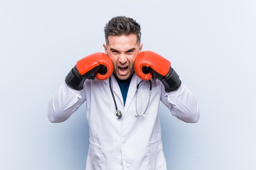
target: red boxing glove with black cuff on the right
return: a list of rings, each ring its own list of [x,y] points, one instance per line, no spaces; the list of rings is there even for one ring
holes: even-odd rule
[[[171,67],[171,62],[152,51],[143,51],[137,55],[134,70],[143,80],[159,79],[165,86],[166,92],[172,92],[181,85],[181,80]]]

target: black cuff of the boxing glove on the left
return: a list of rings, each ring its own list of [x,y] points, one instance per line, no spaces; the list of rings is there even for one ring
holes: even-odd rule
[[[75,90],[82,90],[85,79],[86,78],[82,77],[77,68],[74,66],[66,76],[65,82],[68,86]]]

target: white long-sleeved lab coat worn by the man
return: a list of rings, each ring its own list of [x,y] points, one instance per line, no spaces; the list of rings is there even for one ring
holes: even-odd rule
[[[111,76],[114,96],[122,119],[115,118],[115,104],[109,79],[86,80],[83,89],[76,91],[65,83],[49,102],[48,118],[62,122],[86,101],[90,146],[86,170],[166,170],[161,127],[158,118],[160,100],[171,113],[185,122],[197,122],[199,109],[195,96],[185,85],[166,93],[159,80],[152,80],[152,93],[145,117],[135,117],[136,86],[141,81],[133,75],[126,104],[115,77]],[[149,81],[140,84],[137,109],[143,114],[149,93]]]

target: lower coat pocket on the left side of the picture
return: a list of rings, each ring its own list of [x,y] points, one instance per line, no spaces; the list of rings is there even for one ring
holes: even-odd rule
[[[90,146],[89,146],[89,154],[91,157],[91,163],[95,170],[101,170],[101,164],[102,164],[102,147],[99,144],[95,144],[91,142],[90,140]]]

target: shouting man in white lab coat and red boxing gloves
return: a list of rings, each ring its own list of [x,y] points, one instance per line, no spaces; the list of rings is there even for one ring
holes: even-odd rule
[[[86,170],[166,170],[159,102],[193,123],[199,119],[196,98],[167,59],[142,51],[134,19],[113,17],[104,32],[105,53],[76,63],[50,100],[48,118],[62,122],[86,101]]]

